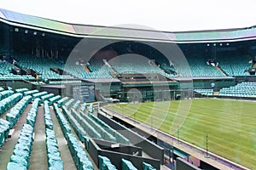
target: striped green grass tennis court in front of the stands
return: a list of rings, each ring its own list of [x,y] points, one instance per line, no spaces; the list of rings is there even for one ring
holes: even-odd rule
[[[108,105],[190,144],[256,169],[256,103],[231,99],[193,99]]]

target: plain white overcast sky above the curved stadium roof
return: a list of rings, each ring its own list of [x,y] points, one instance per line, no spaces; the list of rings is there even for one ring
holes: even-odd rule
[[[69,23],[159,31],[256,25],[255,0],[0,0],[0,8]]]

